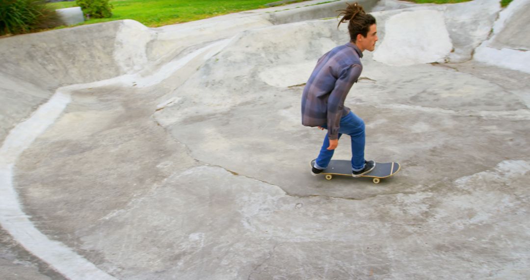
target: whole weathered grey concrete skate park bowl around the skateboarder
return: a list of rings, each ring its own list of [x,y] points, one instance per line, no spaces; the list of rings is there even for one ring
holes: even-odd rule
[[[530,0],[359,1],[378,184],[311,176],[320,2],[0,39],[0,278],[528,279]]]

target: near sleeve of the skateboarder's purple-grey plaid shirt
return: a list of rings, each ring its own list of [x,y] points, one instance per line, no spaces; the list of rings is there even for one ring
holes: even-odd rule
[[[344,109],[344,101],[351,89],[351,86],[357,82],[363,67],[353,64],[345,67],[340,72],[335,87],[328,98],[328,137],[329,139],[339,138],[340,119]]]

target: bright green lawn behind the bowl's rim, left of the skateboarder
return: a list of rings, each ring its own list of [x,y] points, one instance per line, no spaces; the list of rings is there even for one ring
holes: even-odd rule
[[[307,1],[307,0],[304,0]],[[223,14],[264,8],[272,0],[111,0],[112,17],[90,19],[83,24],[135,20],[147,27],[189,22]],[[57,2],[48,5],[58,8],[77,6],[74,2]]]

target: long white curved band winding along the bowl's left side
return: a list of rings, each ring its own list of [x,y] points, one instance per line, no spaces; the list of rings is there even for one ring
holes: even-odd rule
[[[151,86],[169,78],[175,71],[185,66],[201,54],[204,60],[225,48],[231,39],[220,40],[200,48],[181,59],[168,63],[156,73],[146,77],[122,75],[108,80],[87,84],[75,84],[59,88],[56,93],[42,104],[28,120],[13,128],[0,147],[0,225],[11,234],[26,250],[47,262],[58,273],[69,279],[106,280],[116,279],[97,268],[92,262],[77,255],[65,244],[50,240],[42,234],[22,211],[19,196],[13,186],[13,167],[17,158],[35,139],[55,123],[71,101],[70,92],[74,90],[96,88],[98,86],[121,84],[131,86],[137,82],[140,87]]]

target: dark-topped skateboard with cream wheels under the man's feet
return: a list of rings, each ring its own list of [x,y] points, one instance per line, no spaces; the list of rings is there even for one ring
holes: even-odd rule
[[[315,160],[311,161],[311,167],[313,167]],[[364,174],[361,177],[373,178],[374,183],[381,182],[381,179],[388,178],[401,169],[401,166],[397,162],[376,162],[374,170]],[[328,168],[322,171],[325,175],[326,180],[333,179],[333,175],[342,175],[351,177],[351,161],[349,160],[331,160]],[[360,178],[360,177],[359,177]]]

